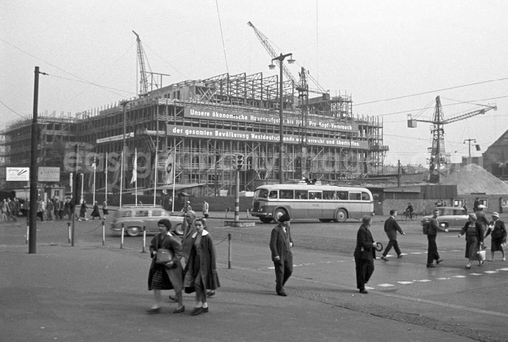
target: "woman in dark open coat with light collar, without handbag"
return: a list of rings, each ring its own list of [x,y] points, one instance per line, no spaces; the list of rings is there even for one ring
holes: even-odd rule
[[[196,232],[193,234],[193,246],[185,265],[184,282],[185,293],[196,291],[196,304],[190,313],[193,316],[207,313],[206,290],[216,290],[220,287],[215,265],[215,247],[210,233],[205,229],[206,222],[197,218],[193,222]]]

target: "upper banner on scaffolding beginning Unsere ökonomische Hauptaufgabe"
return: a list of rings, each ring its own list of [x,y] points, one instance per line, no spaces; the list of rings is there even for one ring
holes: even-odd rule
[[[183,115],[187,118],[201,118],[210,120],[228,120],[240,121],[248,123],[272,123],[279,124],[279,115],[269,113],[248,113],[246,111],[232,110],[232,109],[210,109],[208,107],[190,106],[187,105],[183,109]],[[300,120],[296,117],[286,117],[283,119],[285,126],[300,126]],[[358,132],[357,123],[337,122],[333,118],[308,118],[307,123],[304,124],[308,129],[321,128],[329,129],[340,132]]]

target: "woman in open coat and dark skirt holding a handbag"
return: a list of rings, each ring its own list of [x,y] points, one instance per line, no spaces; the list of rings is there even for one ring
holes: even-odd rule
[[[162,219],[157,222],[160,233],[155,235],[150,242],[150,256],[152,262],[148,272],[148,291],[153,290],[154,303],[147,314],[156,314],[161,311],[161,290],[174,289],[178,305],[173,314],[185,311],[182,301],[183,279],[182,279],[182,246],[171,234],[171,222]],[[170,261],[157,263],[157,253],[160,249],[166,249],[170,254]],[[161,251],[162,252],[162,251]]]

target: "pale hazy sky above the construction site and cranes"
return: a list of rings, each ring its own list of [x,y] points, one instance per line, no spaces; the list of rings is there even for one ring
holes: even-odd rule
[[[23,1],[0,11],[0,127],[38,113],[111,106],[139,89],[136,36],[147,69],[163,85],[225,73],[277,74],[251,21],[298,78],[304,66],[332,96],[348,94],[355,115],[384,123],[385,164],[427,164],[431,119],[496,105],[444,126],[452,161],[480,156],[508,129],[508,2],[498,1]],[[310,84],[313,86],[313,84]]]

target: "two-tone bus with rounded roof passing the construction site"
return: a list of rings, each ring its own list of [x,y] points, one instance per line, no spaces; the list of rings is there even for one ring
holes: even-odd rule
[[[372,193],[366,188],[336,185],[270,184],[256,188],[250,214],[263,223],[288,213],[292,220],[345,222],[374,214]]]

